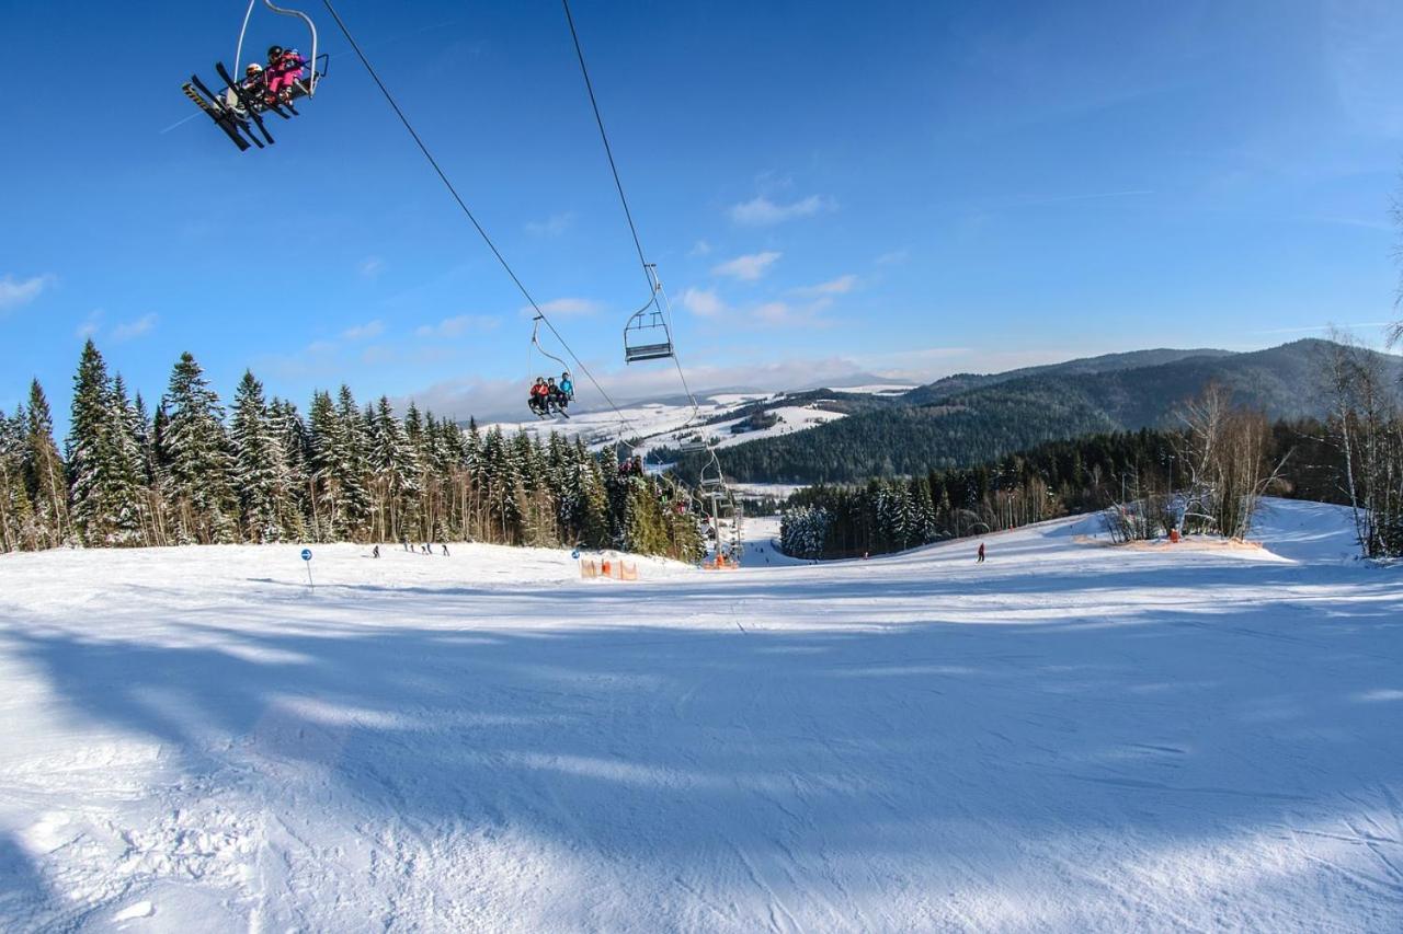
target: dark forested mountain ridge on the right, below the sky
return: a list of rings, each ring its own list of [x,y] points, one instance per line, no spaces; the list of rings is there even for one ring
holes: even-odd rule
[[[1174,422],[1208,383],[1271,418],[1322,415],[1327,341],[1267,351],[1155,349],[1012,370],[957,374],[901,395],[814,390],[752,401],[752,411],[812,405],[845,418],[725,450],[724,468],[744,482],[840,482],[989,461],[1041,442]],[[1403,358],[1376,355],[1403,380]],[[734,417],[734,415],[732,415]],[[696,468],[679,457],[683,473]]]

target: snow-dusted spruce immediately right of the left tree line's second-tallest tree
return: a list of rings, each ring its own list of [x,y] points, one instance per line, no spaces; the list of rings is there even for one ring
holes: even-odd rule
[[[234,391],[230,442],[243,537],[254,543],[285,541],[296,527],[288,459],[262,383],[250,370],[244,370]]]

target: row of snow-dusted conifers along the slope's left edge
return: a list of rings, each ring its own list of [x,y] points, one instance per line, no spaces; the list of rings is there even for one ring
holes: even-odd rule
[[[0,551],[281,541],[485,541],[704,553],[690,495],[556,433],[506,436],[349,387],[303,417],[246,373],[229,411],[185,353],[149,412],[83,348],[65,453],[38,381],[0,412]]]

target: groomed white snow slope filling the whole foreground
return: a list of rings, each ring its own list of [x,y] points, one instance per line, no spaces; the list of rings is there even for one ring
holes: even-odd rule
[[[0,927],[1403,930],[1400,572],[1090,532],[6,555]]]

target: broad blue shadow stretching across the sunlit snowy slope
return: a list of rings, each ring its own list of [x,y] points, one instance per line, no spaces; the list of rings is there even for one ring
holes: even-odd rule
[[[0,644],[73,712],[159,739],[210,787],[267,783],[261,799],[286,819],[303,808],[293,790],[320,783],[358,827],[513,830],[613,865],[725,862],[741,847],[899,867],[986,846],[998,875],[1030,841],[1190,846],[1327,822],[1399,787],[1400,600],[1226,593],[1299,582],[1291,571],[989,582],[1069,597],[1062,618],[1035,624],[944,621],[940,599],[968,583],[939,575],[870,588],[766,578],[734,581],[723,602],[880,624],[884,600],[909,613],[919,597],[929,616],[885,631],[457,628],[462,588],[415,588],[405,606],[398,590],[344,586],[296,614],[187,611],[171,627],[180,644],[105,641],[100,617],[91,638],[14,627]],[[1128,606],[1110,621],[1073,599],[1194,585],[1204,606]],[[539,624],[570,618],[585,592],[474,590],[471,611]],[[711,613],[717,593],[671,585],[666,611]],[[1357,590],[1382,593],[1367,578]],[[600,618],[647,618],[652,596],[589,595]],[[874,602],[850,618],[835,609],[849,597]],[[989,840],[971,843],[971,826]],[[38,879],[7,885],[0,899]]]

